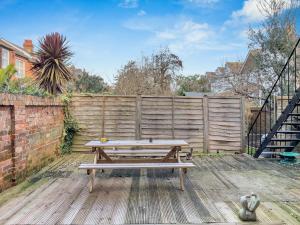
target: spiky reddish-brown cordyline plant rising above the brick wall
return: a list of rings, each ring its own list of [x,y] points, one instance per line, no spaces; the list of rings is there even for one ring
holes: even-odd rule
[[[51,94],[62,93],[65,83],[72,79],[68,69],[72,55],[65,36],[51,33],[42,38],[32,68],[37,84]]]

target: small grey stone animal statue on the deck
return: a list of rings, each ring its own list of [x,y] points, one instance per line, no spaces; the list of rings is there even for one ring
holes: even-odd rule
[[[255,210],[260,204],[259,197],[251,193],[251,195],[242,196],[240,199],[242,208],[239,211],[239,217],[242,221],[256,221]]]

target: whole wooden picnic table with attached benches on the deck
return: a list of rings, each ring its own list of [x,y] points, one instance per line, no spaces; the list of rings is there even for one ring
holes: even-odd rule
[[[81,164],[80,169],[86,169],[90,176],[89,191],[92,192],[97,169],[179,169],[180,189],[184,190],[183,176],[193,163],[181,162],[179,152],[188,143],[184,140],[99,140],[85,144],[91,148],[87,153],[94,154],[93,163]],[[144,149],[147,147],[147,149]],[[149,149],[151,147],[152,149]],[[160,149],[164,148],[164,149]],[[166,148],[169,148],[166,150]],[[137,155],[143,157],[136,157]],[[127,156],[120,158],[118,156]],[[117,156],[117,157],[116,157]],[[155,157],[157,156],[157,157]],[[129,157],[129,158],[128,158]],[[155,158],[154,158],[155,157]]]

